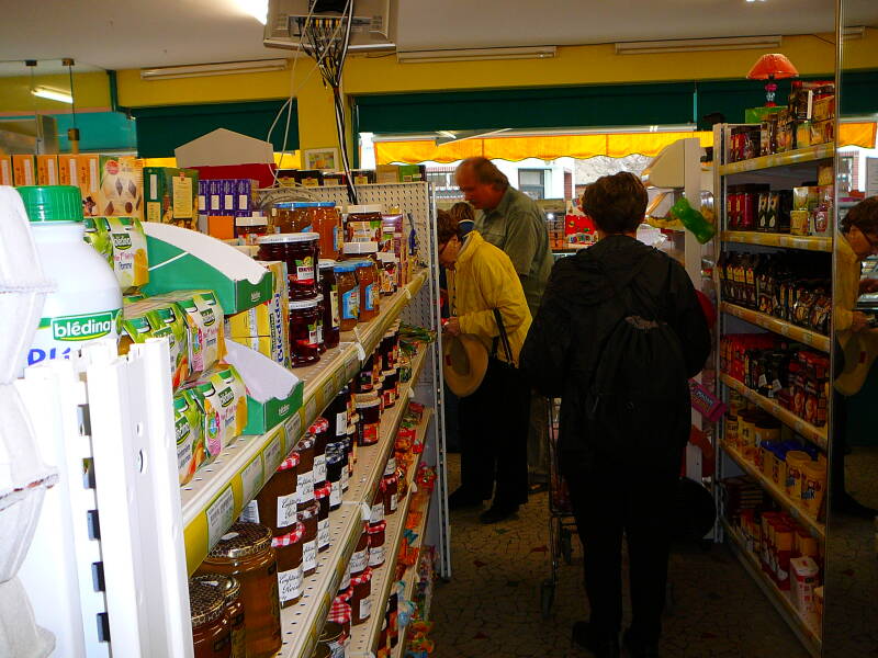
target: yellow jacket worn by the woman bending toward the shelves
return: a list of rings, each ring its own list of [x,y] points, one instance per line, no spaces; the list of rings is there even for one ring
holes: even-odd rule
[[[466,235],[454,268],[448,271],[448,295],[451,315],[460,318],[461,333],[476,336],[491,353],[494,338],[499,336],[493,310],[498,308],[513,362],[518,365],[531,317],[513,261],[473,230]],[[499,342],[497,358],[508,361]]]

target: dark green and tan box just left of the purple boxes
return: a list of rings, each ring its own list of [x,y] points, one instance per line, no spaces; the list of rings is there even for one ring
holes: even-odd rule
[[[145,167],[146,220],[195,229],[199,172],[176,167]]]

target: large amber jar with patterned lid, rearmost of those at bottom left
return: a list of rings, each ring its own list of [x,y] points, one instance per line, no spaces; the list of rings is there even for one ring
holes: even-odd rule
[[[240,582],[248,658],[269,658],[283,644],[278,602],[278,558],[271,530],[235,523],[204,558],[199,574],[234,576]]]

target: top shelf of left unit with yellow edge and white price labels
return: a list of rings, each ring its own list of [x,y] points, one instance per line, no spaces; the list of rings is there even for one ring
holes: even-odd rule
[[[187,569],[192,574],[210,547],[240,515],[262,485],[290,453],[302,432],[323,413],[336,394],[356,375],[408,300],[420,290],[426,270],[405,287],[382,299],[381,315],[341,334],[338,348],[327,350],[320,361],[292,372],[305,382],[302,408],[264,434],[238,436],[216,460],[195,473],[181,488]]]

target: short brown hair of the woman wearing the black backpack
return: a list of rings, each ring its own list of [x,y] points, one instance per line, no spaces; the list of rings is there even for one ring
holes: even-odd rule
[[[638,229],[646,214],[646,189],[633,173],[621,171],[604,175],[586,188],[583,212],[605,234],[626,234]]]

